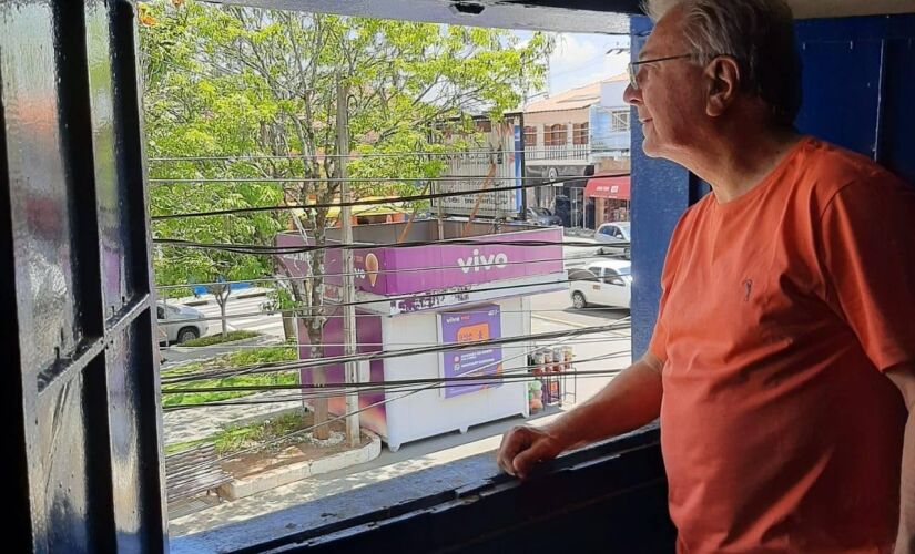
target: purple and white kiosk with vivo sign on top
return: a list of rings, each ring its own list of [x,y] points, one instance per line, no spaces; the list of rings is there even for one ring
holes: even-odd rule
[[[405,223],[364,225],[353,229],[360,245],[396,244]],[[529,296],[567,288],[562,264],[562,229],[527,225],[475,223],[465,239],[475,244],[448,244],[460,237],[465,222],[444,222],[438,242],[437,220],[415,222],[405,243],[435,242],[414,247],[379,246],[357,249],[355,260],[356,340],[358,352],[407,350],[431,345],[460,343],[530,334]],[[339,229],[327,229],[329,244]],[[550,242],[525,246],[523,242]],[[279,246],[301,246],[294,232],[277,236]],[[488,244],[494,243],[494,244]],[[305,276],[302,255],[284,257],[295,276]],[[340,250],[325,250],[325,298],[329,306],[342,298]],[[343,309],[332,309],[324,326],[325,356],[343,355]],[[298,322],[299,343],[308,335]],[[490,376],[485,383],[409,386],[359,396],[362,427],[378,433],[392,451],[405,442],[470,425],[521,414],[528,416],[527,382],[494,380],[491,376],[525,371],[531,345],[511,343],[364,361],[359,381],[398,381],[448,377]],[[299,358],[309,357],[307,346]],[[343,366],[326,369],[328,383],[344,382]],[[311,382],[308,369],[302,382]],[[332,413],[345,412],[345,399],[329,402]]]

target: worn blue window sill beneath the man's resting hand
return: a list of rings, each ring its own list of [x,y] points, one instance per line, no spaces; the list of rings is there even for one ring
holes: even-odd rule
[[[179,553],[321,550],[349,547],[364,541],[392,546],[404,542],[413,551],[461,544],[474,550],[470,545],[479,548],[481,537],[517,533],[545,517],[560,517],[583,506],[613,502],[614,496],[630,495],[627,506],[631,507],[632,494],[639,494],[640,490],[647,493],[645,502],[653,503],[649,511],[657,512],[659,506],[654,504],[659,494],[662,500],[665,497],[659,437],[657,423],[652,423],[563,455],[545,464],[525,483],[500,473],[492,452],[478,454],[177,537],[172,540],[171,550]],[[667,517],[664,505],[662,520]],[[458,513],[461,515],[456,520]]]

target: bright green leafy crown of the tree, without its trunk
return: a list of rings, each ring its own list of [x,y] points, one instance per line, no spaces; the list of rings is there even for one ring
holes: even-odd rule
[[[156,185],[153,215],[251,205],[333,202],[338,79],[349,91],[350,148],[362,154],[440,150],[435,124],[467,113],[500,117],[545,78],[551,37],[526,43],[505,30],[278,12],[159,0],[141,25],[148,152],[156,156],[299,155],[295,160],[155,162],[153,178],[293,178],[276,183]],[[325,154],[329,154],[325,156]],[[356,196],[416,194],[413,179],[436,176],[440,158],[364,157]],[[270,243],[288,216],[261,213],[161,220],[156,236],[199,242]],[[324,225],[326,211],[313,214]],[[160,284],[271,273],[254,256],[162,248]],[[216,276],[214,278],[214,276]]]

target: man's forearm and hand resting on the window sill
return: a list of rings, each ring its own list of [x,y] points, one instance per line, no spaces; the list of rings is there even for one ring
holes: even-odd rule
[[[516,427],[502,437],[499,466],[525,479],[538,463],[575,447],[638,429],[661,411],[661,360],[647,353],[593,398],[541,429]]]

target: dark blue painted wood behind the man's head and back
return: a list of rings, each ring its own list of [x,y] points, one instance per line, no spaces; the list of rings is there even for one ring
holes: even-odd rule
[[[797,129],[915,182],[915,16],[801,21]]]

